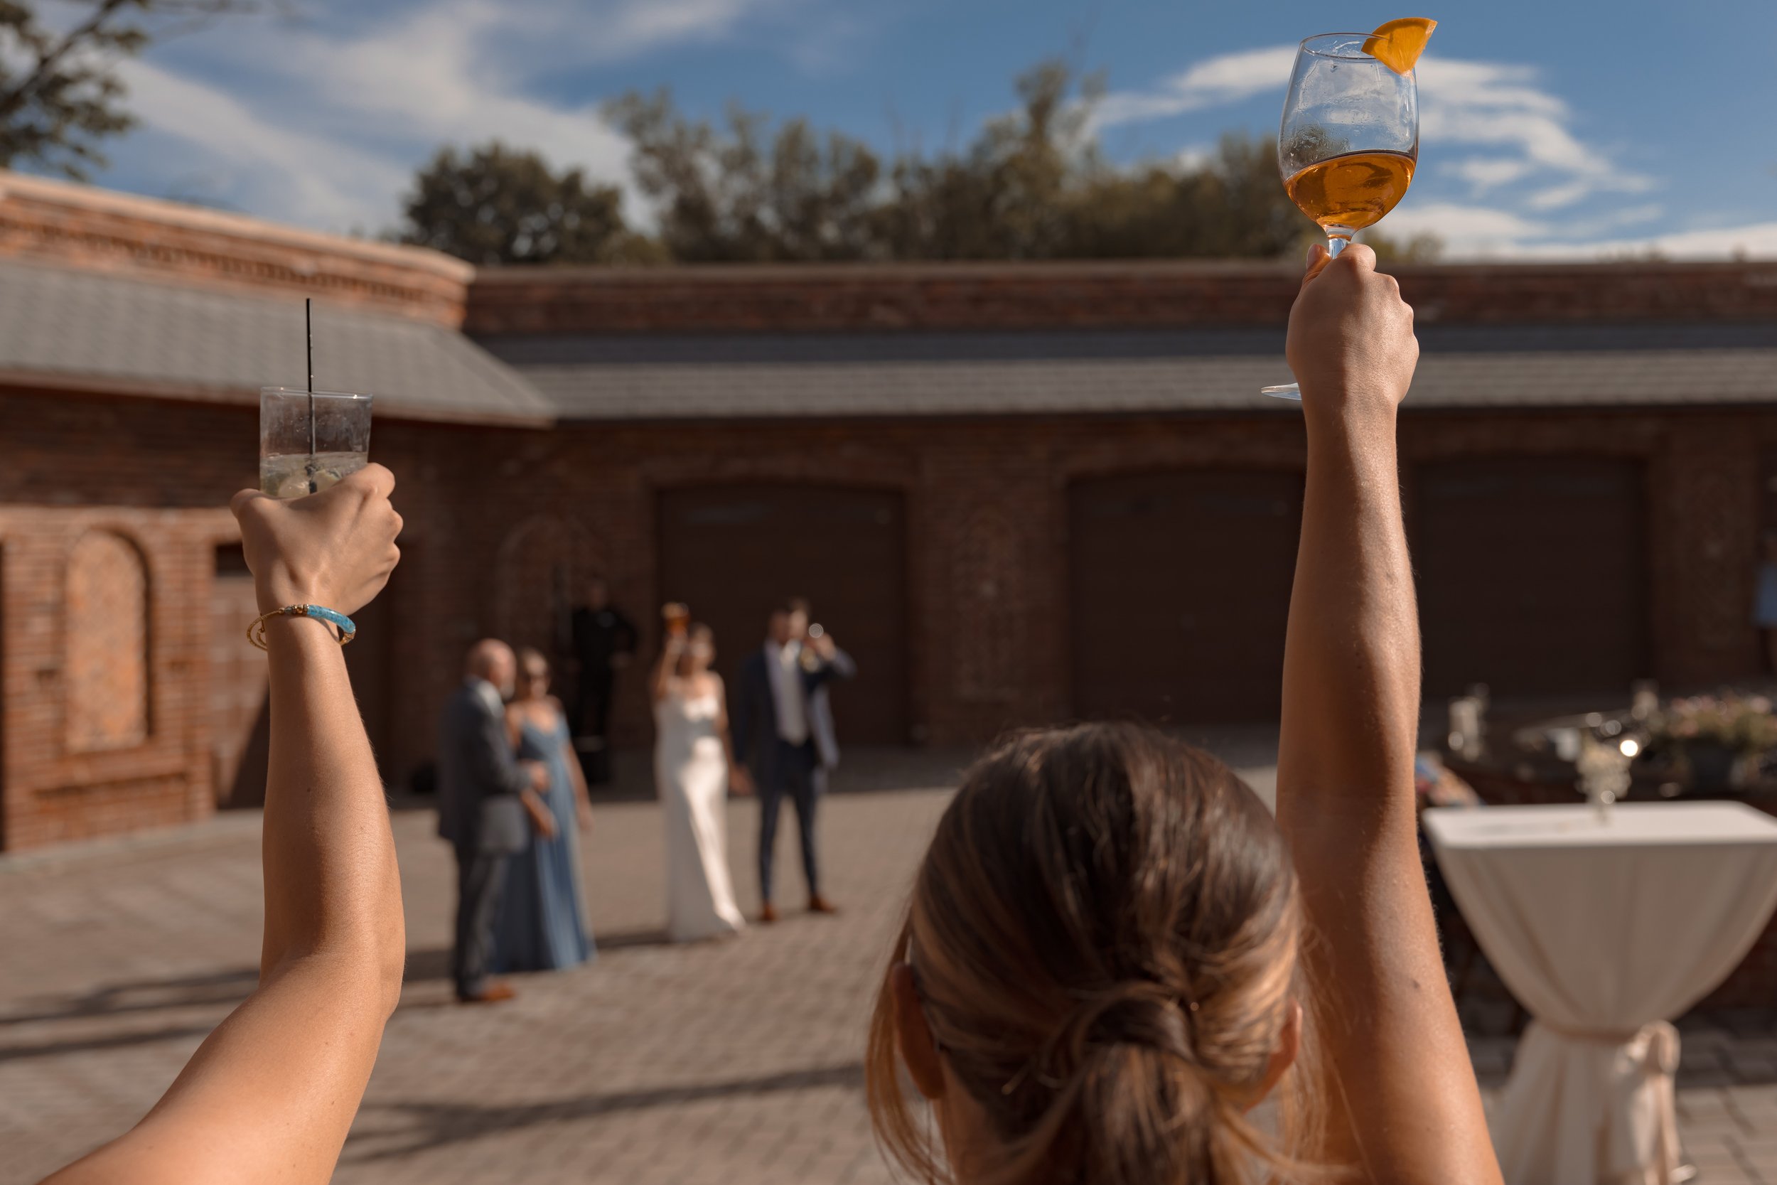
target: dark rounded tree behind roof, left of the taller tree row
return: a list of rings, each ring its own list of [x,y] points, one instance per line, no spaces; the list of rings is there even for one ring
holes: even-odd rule
[[[498,140],[458,155],[442,147],[405,199],[403,243],[432,247],[476,265],[650,263],[657,247],[624,224],[613,185],[590,185],[579,169],[554,172],[537,153]]]

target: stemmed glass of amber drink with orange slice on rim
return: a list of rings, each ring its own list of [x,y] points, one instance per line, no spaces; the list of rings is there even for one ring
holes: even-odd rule
[[[1374,34],[1303,41],[1278,130],[1278,171],[1290,201],[1320,224],[1327,254],[1375,226],[1406,197],[1420,160],[1414,62],[1438,21],[1409,16]],[[1303,398],[1294,382],[1260,387]]]

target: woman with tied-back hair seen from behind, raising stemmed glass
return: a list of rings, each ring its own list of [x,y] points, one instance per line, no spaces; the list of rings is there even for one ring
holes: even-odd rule
[[[1208,753],[1127,723],[977,762],[864,1057],[897,1176],[1500,1185],[1414,844],[1413,311],[1368,247],[1317,245],[1287,350],[1308,480],[1276,819]]]

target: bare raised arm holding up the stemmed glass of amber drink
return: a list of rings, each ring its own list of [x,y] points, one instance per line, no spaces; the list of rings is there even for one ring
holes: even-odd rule
[[[1308,490],[1283,657],[1278,823],[1313,938],[1335,1114],[1319,1157],[1381,1185],[1500,1181],[1438,956],[1413,812],[1420,634],[1395,412],[1413,309],[1367,247],[1313,258],[1290,314]]]

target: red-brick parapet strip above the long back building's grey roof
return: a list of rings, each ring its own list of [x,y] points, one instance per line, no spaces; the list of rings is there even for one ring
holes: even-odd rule
[[[1772,263],[1390,268],[1422,323],[1777,316]],[[1290,263],[483,268],[471,334],[1281,325]]]

